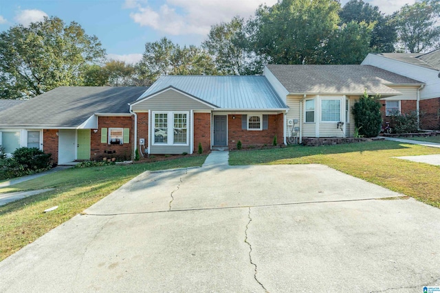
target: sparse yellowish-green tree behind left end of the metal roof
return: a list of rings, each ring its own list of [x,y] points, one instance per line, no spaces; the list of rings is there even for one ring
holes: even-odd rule
[[[215,74],[214,62],[198,47],[180,47],[168,38],[146,43],[142,60],[136,65],[137,75],[151,84],[160,75]]]

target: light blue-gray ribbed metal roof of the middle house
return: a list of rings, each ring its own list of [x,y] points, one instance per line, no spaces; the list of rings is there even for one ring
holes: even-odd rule
[[[267,78],[259,75],[166,75],[150,86],[138,100],[169,86],[221,109],[287,108]]]

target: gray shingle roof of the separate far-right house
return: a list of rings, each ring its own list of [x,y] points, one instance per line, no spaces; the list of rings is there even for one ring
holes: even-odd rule
[[[421,53],[382,53],[378,56],[384,56],[386,58],[399,60],[402,62],[410,63],[429,69],[440,70],[440,49],[428,52],[426,54]]]

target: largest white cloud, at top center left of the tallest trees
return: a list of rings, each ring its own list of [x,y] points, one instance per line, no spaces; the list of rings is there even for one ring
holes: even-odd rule
[[[264,3],[273,5],[276,0],[165,0],[156,9],[145,1],[126,0],[124,7],[135,9],[130,17],[141,26],[171,35],[206,35],[211,25],[236,15],[248,18]]]

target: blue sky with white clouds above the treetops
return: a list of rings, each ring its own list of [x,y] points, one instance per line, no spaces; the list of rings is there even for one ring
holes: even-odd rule
[[[367,1],[388,14],[415,0]],[[0,0],[0,31],[58,16],[98,36],[109,58],[135,62],[146,42],[166,36],[179,45],[200,45],[210,25],[235,15],[246,18],[261,3],[276,0]]]

